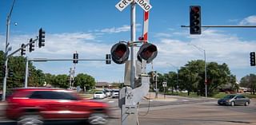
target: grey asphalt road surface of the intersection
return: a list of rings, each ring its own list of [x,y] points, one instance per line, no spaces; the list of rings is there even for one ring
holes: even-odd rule
[[[121,110],[118,99],[106,98],[110,105],[110,124],[121,124]],[[5,103],[0,103],[0,125],[15,124],[4,119]],[[256,100],[245,106],[218,106],[212,98],[187,98],[180,96],[158,95],[149,93],[139,104],[138,122],[140,125],[256,125]],[[64,123],[58,123],[64,124]],[[65,122],[65,124],[69,124]],[[72,124],[72,123],[70,123]],[[74,124],[74,123],[73,123]]]

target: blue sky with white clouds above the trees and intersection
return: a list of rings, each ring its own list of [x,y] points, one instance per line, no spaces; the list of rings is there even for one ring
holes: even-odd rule
[[[10,45],[15,49],[46,30],[46,46],[28,53],[29,58],[105,59],[112,45],[130,41],[130,6],[120,12],[119,0],[16,0],[11,15]],[[5,49],[6,16],[12,0],[0,1],[0,49]],[[254,0],[150,0],[149,41],[158,46],[154,70],[161,73],[176,71],[188,61],[203,60],[226,63],[239,81],[255,73],[250,67],[251,51],[256,49],[255,28],[204,28],[202,35],[190,35],[189,6],[202,8],[202,25],[256,25]],[[17,22],[18,25],[14,25]],[[136,6],[136,37],[142,35],[143,10]],[[192,44],[192,45],[190,45]],[[138,49],[137,49],[138,50]],[[18,56],[20,53],[17,53]],[[72,61],[34,62],[38,69],[52,74],[68,74]],[[97,81],[122,82],[124,64],[105,61],[79,61],[76,74],[86,73]],[[147,71],[152,70],[147,64]]]

